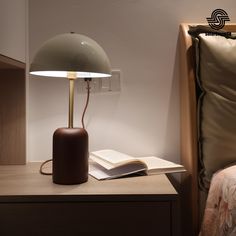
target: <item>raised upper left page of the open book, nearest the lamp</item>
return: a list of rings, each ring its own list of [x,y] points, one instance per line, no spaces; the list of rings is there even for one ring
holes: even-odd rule
[[[117,152],[115,150],[110,150],[110,149],[104,149],[104,150],[92,152],[91,154],[113,165],[130,162],[135,159],[132,156],[129,156],[121,152]]]

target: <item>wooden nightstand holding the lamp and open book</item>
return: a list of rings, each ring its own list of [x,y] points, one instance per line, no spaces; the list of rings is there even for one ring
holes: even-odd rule
[[[0,166],[0,235],[175,236],[178,194],[165,175],[56,185],[39,163]]]

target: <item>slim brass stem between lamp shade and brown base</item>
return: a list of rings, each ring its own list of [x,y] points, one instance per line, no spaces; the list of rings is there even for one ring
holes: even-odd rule
[[[69,79],[70,88],[69,88],[69,120],[68,127],[73,128],[73,117],[74,117],[74,87],[75,87],[75,72],[68,72],[67,78]]]

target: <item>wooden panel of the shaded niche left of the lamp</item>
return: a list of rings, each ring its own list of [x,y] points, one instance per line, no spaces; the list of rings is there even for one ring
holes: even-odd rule
[[[1,56],[0,164],[26,162],[25,104],[24,64]]]

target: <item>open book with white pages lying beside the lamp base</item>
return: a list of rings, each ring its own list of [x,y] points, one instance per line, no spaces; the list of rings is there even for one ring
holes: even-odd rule
[[[98,180],[134,173],[151,175],[182,171],[185,171],[182,165],[154,156],[132,157],[110,149],[90,153],[89,174]]]

